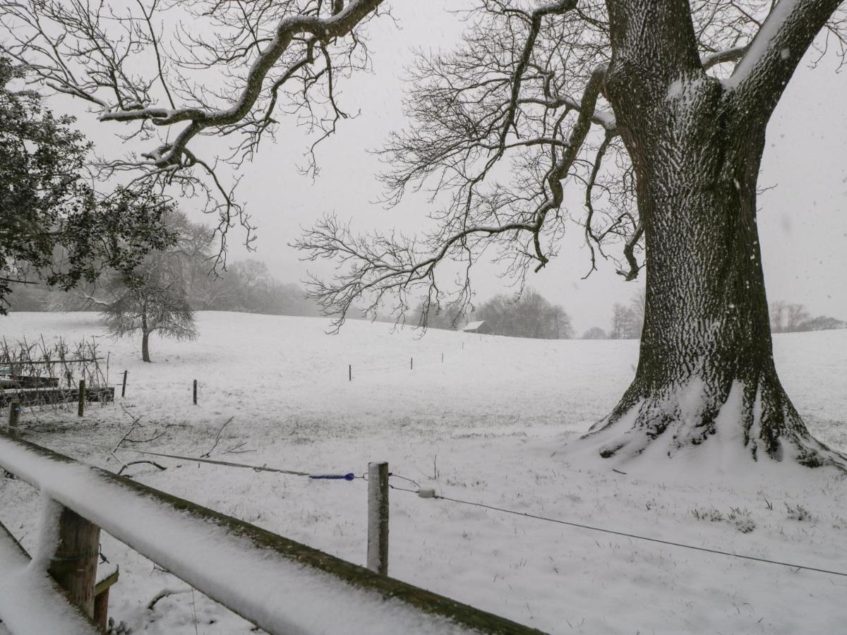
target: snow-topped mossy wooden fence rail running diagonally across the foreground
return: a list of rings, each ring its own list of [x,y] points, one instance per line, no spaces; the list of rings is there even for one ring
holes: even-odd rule
[[[0,467],[270,633],[539,632],[2,432]]]

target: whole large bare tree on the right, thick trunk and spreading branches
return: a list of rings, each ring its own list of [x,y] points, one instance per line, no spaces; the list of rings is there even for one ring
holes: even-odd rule
[[[634,381],[584,443],[673,456],[720,425],[753,459],[843,467],[779,382],[756,229],[767,122],[818,34],[844,54],[840,4],[483,0],[457,52],[419,60],[412,126],[385,148],[394,196],[428,185],[450,204],[418,239],[318,224],[301,246],[349,268],[316,295],[338,312],[415,283],[437,296],[440,262],[492,243],[523,276],[575,218],[591,268],[616,242],[624,278],[649,268]],[[584,191],[579,216],[568,186]]]

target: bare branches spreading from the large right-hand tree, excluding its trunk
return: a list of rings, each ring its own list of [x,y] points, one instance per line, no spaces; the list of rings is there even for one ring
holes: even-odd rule
[[[556,255],[568,224],[584,232],[586,275],[598,255],[625,279],[638,275],[644,227],[604,92],[612,4],[478,0],[463,14],[462,46],[418,54],[406,100],[412,123],[381,151],[389,166],[383,179],[390,203],[410,189],[449,202],[432,215],[435,229],[414,238],[352,235],[335,217],[310,231],[299,247],[346,265],[334,281],[313,280],[326,310],[343,315],[368,298],[374,311],[387,293],[400,295],[402,309],[406,294],[421,286],[424,306],[439,306],[445,294],[435,271],[446,260],[465,267],[451,301],[466,304],[468,269],[486,248],[495,246],[507,274],[523,282]],[[732,75],[776,4],[692,0],[702,68],[721,79]],[[814,3],[795,4],[800,15]],[[821,56],[834,44],[844,60],[843,26],[836,11],[818,39]]]

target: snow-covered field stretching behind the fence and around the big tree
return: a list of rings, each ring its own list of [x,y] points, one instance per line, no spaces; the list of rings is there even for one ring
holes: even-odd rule
[[[26,438],[113,471],[108,448],[141,417],[144,450],[306,472],[392,472],[440,494],[569,522],[847,572],[847,480],[829,469],[702,465],[679,458],[612,472],[563,458],[567,439],[614,406],[634,341],[541,341],[379,323],[200,313],[195,342],[111,340],[95,314],[0,317],[7,340],[92,335],[125,399],[25,411]],[[821,439],[847,451],[847,331],[775,338],[783,384]],[[442,362],[442,354],[444,361]],[[414,359],[410,369],[410,358]],[[352,382],[348,380],[352,364]],[[191,381],[200,385],[191,403]],[[238,453],[225,453],[238,446]],[[143,458],[120,452],[123,461]],[[306,478],[197,462],[130,467],[136,480],[363,563],[363,480]],[[411,483],[396,480],[398,487]],[[390,575],[546,632],[847,632],[847,577],[622,538],[391,492]],[[0,521],[28,549],[39,496],[0,480]],[[251,625],[105,537],[119,564],[110,613],[132,632],[248,633]],[[0,572],[2,575],[2,572]],[[329,609],[328,607],[328,610]],[[355,625],[351,632],[356,632]]]

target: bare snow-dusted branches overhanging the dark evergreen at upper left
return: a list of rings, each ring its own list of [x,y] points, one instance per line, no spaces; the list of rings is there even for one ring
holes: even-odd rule
[[[123,137],[135,152],[103,160],[100,176],[128,173],[131,185],[205,196],[222,246],[239,222],[249,245],[254,228],[228,173],[273,136],[280,115],[311,129],[316,144],[348,117],[335,84],[368,65],[362,29],[380,3],[0,0],[0,54],[84,100],[101,121],[129,127]],[[204,135],[229,143],[210,149]],[[304,169],[315,168],[310,152]]]

